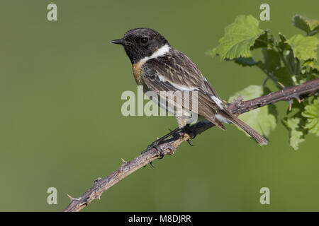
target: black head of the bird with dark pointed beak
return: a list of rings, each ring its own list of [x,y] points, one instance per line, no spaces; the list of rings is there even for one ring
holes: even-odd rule
[[[150,57],[160,47],[169,43],[150,28],[134,28],[125,32],[120,40],[111,41],[114,44],[122,44],[132,64],[138,63],[145,57]]]

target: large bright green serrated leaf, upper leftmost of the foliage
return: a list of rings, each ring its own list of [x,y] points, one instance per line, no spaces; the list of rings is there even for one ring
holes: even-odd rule
[[[264,30],[258,27],[259,20],[253,16],[237,16],[235,23],[225,28],[225,36],[219,41],[218,47],[208,54],[218,54],[220,60],[234,59],[238,57],[252,57],[250,47],[255,40],[264,34]]]

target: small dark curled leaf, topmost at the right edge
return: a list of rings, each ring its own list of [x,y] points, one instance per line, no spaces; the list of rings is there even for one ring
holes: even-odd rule
[[[311,20],[300,15],[293,16],[293,25],[306,31],[307,35],[315,35],[319,31],[319,20]]]

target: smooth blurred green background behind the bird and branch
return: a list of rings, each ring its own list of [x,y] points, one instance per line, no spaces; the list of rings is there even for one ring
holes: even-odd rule
[[[58,21],[47,21],[47,4]],[[188,55],[227,100],[259,85],[259,69],[220,62],[204,52],[216,47],[240,14],[261,28],[291,37],[298,13],[318,18],[319,1],[46,1],[1,0],[0,210],[60,211],[176,126],[174,117],[123,117],[121,94],[136,92],[130,61],[110,40],[130,28],[158,30]],[[276,104],[279,119],[286,102]],[[318,138],[289,147],[279,121],[269,145],[259,147],[238,131],[211,129],[113,186],[84,211],[319,210]],[[48,205],[48,187],[57,205]],[[270,189],[270,205],[259,189]]]

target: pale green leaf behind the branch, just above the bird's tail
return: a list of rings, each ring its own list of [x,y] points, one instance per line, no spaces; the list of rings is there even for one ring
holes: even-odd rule
[[[232,102],[239,96],[242,97],[243,100],[250,100],[255,97],[260,97],[264,93],[267,93],[267,90],[263,90],[261,85],[250,85],[247,88],[235,93],[229,98],[228,102]],[[270,131],[276,128],[275,106],[259,107],[250,112],[240,114],[239,118],[250,125],[252,129],[264,136],[269,136]]]

